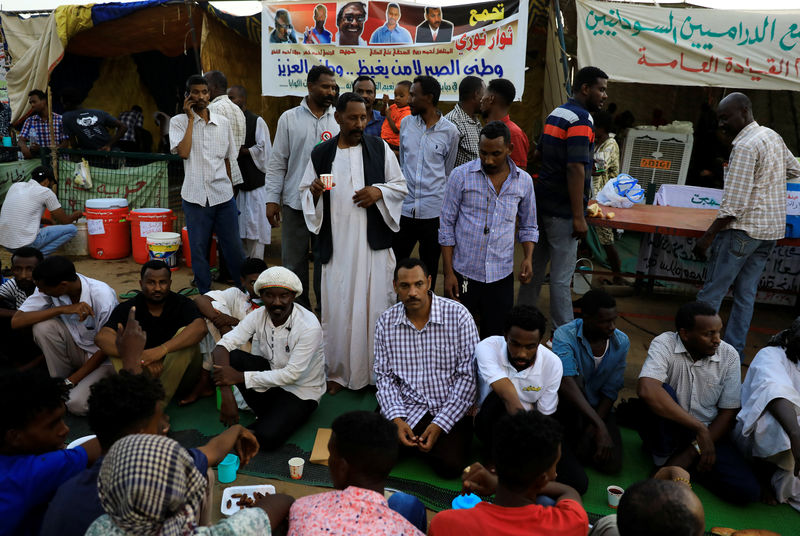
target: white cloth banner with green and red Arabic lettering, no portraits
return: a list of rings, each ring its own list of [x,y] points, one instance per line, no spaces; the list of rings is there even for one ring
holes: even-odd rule
[[[800,90],[800,11],[586,0],[577,11],[580,65],[615,82]]]

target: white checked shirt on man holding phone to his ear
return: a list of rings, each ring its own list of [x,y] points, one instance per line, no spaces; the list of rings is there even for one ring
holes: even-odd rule
[[[225,159],[233,164],[239,156],[239,147],[233,139],[230,123],[223,116],[209,111],[208,123],[194,112],[192,117],[192,150],[189,158],[183,160],[181,197],[201,206],[220,205],[233,197]],[[188,125],[186,114],[176,115],[169,122],[169,146],[173,153],[178,152],[178,144]]]

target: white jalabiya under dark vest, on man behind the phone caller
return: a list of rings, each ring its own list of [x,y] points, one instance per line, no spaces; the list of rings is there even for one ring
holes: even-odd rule
[[[264,172],[272,152],[269,127],[261,117],[256,121],[256,144],[248,149],[256,167]],[[267,221],[266,186],[239,192],[236,196],[239,209],[239,235],[244,242],[245,255],[264,258],[264,247],[272,241],[272,227]]]

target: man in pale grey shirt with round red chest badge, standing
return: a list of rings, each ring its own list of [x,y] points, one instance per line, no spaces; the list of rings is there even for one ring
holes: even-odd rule
[[[300,180],[311,156],[311,149],[339,133],[333,107],[336,78],[324,65],[308,71],[308,96],[300,106],[281,114],[272,154],[267,165],[267,219],[281,227],[281,264],[300,278],[303,294],[297,302],[311,309],[308,292],[308,246],[312,233],[306,227],[300,200]],[[314,294],[320,303],[322,264],[314,255]]]

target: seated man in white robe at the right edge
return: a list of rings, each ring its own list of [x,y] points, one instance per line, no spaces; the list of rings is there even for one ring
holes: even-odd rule
[[[776,466],[775,498],[800,510],[800,317],[750,363],[734,438],[745,453]]]

